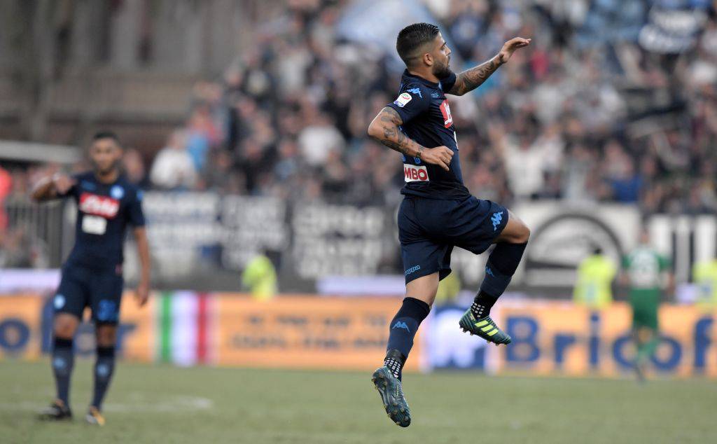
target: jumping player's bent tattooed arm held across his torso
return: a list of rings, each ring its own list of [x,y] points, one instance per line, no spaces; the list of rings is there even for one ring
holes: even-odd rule
[[[369,136],[398,151],[405,156],[412,156],[429,164],[449,170],[453,151],[445,146],[426,148],[412,138],[406,136],[399,128],[403,121],[399,113],[390,106],[384,107],[369,125]]]

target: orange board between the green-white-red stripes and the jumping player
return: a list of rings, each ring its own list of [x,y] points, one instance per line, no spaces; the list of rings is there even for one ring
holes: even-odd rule
[[[249,367],[374,369],[400,302],[386,298],[217,295],[217,363]],[[417,369],[414,341],[407,369]]]

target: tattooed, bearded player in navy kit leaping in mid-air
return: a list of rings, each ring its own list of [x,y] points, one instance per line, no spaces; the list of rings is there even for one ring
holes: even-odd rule
[[[404,200],[399,207],[399,241],[406,298],[389,325],[384,365],[373,377],[386,413],[402,427],[411,424],[401,371],[420,323],[428,316],[438,282],[450,274],[454,246],[488,257],[485,278],[460,328],[495,345],[511,337],[490,318],[490,308],[518,268],[530,230],[505,207],[473,197],[463,185],[458,143],[446,94],[463,95],[485,81],[530,44],[516,37],[495,57],[470,70],[450,70],[450,49],[435,25],[412,24],[399,32],[396,49],[406,64],[399,95],[369,126],[369,136],[399,151]]]

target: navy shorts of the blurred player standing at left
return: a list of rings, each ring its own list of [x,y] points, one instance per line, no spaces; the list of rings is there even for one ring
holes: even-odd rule
[[[54,312],[82,319],[85,307],[90,307],[95,323],[118,323],[123,287],[121,272],[66,265],[52,301]]]

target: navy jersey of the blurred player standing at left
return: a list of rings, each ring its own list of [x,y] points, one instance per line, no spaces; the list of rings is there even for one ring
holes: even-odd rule
[[[72,177],[76,183],[65,196],[77,203],[77,226],[67,265],[117,269],[123,263],[127,224],[144,225],[142,192],[125,176],[112,184],[98,181],[91,171]]]

